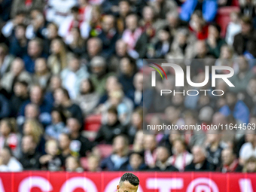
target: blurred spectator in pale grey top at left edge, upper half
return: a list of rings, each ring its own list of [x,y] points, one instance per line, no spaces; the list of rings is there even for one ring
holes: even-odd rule
[[[9,93],[13,91],[13,85],[15,81],[26,81],[27,83],[32,82],[29,73],[24,70],[24,62],[20,58],[14,59],[11,63],[10,72],[6,73],[1,81],[2,87],[5,88]]]

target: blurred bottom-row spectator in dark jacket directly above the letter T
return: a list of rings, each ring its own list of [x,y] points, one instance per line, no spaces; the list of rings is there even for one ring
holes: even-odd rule
[[[169,162],[170,151],[165,146],[157,148],[157,162],[151,171],[178,172],[178,169]]]

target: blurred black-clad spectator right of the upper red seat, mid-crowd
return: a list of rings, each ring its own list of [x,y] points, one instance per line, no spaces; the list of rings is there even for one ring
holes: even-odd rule
[[[111,144],[114,136],[126,133],[126,129],[122,126],[117,119],[117,109],[111,107],[108,109],[107,123],[102,125],[97,133],[95,142],[105,142],[106,144]]]

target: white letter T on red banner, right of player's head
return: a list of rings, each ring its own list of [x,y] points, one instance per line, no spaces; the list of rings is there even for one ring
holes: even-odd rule
[[[148,189],[158,189],[159,192],[171,192],[172,189],[183,188],[183,178],[148,178]]]

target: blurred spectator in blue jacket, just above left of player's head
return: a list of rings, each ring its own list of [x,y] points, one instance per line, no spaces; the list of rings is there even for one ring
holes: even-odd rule
[[[102,160],[100,165],[102,170],[120,171],[126,170],[129,163],[129,140],[126,136],[120,135],[114,138],[113,153]]]

